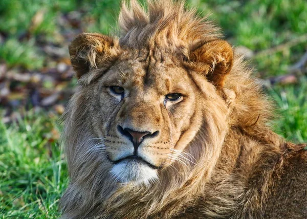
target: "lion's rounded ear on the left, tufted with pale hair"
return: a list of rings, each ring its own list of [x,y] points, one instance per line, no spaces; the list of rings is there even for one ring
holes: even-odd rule
[[[79,34],[69,46],[72,66],[79,79],[85,73],[107,68],[119,54],[116,39],[98,33]]]

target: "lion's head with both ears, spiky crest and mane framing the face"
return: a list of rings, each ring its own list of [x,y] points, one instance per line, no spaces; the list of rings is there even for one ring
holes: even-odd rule
[[[65,113],[62,206],[71,217],[137,215],[136,203],[143,216],[176,209],[210,179],[229,127],[235,60],[210,21],[182,2],[149,1],[146,11],[132,1],[119,26],[119,38],[83,33],[69,47],[78,91]]]

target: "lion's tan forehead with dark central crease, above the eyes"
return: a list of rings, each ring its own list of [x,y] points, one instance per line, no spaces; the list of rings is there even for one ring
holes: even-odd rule
[[[187,71],[170,61],[161,62],[150,58],[144,60],[133,56],[129,59],[119,59],[110,70],[107,81],[116,81],[135,90],[153,87],[157,94],[181,90],[192,92],[189,88],[193,81],[190,81]]]

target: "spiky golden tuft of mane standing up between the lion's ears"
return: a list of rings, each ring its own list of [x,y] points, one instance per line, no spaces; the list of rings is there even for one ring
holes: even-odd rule
[[[147,1],[147,10],[136,1],[124,2],[119,14],[120,43],[129,48],[190,50],[201,41],[220,37],[219,29],[184,1]]]

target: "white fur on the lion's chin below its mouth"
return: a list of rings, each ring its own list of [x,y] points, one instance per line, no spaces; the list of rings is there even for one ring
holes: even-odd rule
[[[156,169],[136,161],[122,161],[115,164],[110,172],[121,183],[134,182],[149,186],[158,179]]]

